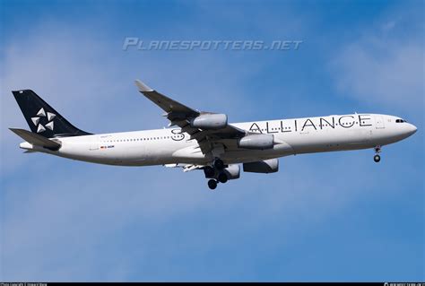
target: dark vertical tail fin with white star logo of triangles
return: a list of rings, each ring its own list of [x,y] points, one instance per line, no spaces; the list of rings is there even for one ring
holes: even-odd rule
[[[12,91],[12,93],[33,133],[46,138],[90,134],[69,123],[46,101],[41,100],[34,91],[23,90]]]

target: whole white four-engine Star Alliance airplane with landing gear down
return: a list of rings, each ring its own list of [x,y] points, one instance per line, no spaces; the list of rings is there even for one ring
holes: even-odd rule
[[[12,91],[30,131],[10,128],[25,142],[25,152],[116,166],[203,170],[213,190],[245,172],[274,173],[289,155],[374,149],[401,141],[417,130],[401,117],[354,113],[230,124],[226,114],[198,111],[172,100],[145,83],[138,90],[165,111],[169,127],[91,134],[69,123],[31,90]]]

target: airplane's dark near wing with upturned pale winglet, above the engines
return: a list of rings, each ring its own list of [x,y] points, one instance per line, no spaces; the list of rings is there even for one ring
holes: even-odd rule
[[[247,134],[245,130],[229,124],[221,129],[203,130],[192,127],[190,125],[190,121],[193,118],[209,112],[200,112],[193,108],[188,108],[186,105],[181,104],[178,101],[171,100],[169,97],[160,94],[158,91],[152,90],[152,88],[138,80],[135,81],[135,85],[146,98],[166,112],[164,117],[169,119],[169,126],[179,126],[182,132],[189,134],[190,139],[195,139],[198,143],[204,142],[205,140],[212,143],[221,139],[238,139]]]

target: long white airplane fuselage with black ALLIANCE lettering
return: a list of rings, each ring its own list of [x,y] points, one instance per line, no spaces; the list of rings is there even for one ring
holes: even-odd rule
[[[350,114],[231,124],[252,133],[273,134],[273,149],[247,150],[235,139],[221,141],[221,160],[227,164],[310,153],[358,150],[395,143],[410,136],[416,127],[396,122],[399,117]],[[195,139],[179,128],[56,138],[62,144],[54,152],[21,143],[21,148],[57,156],[121,166],[176,163],[208,164],[211,152],[202,152]]]

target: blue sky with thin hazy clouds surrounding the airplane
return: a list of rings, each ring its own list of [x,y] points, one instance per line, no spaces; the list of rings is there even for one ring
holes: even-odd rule
[[[2,281],[423,281],[423,2],[1,1]],[[302,40],[288,51],[124,51]],[[418,126],[373,151],[282,158],[210,192],[200,172],[23,154],[10,91],[75,126],[160,128],[140,78],[230,122],[357,112]]]

